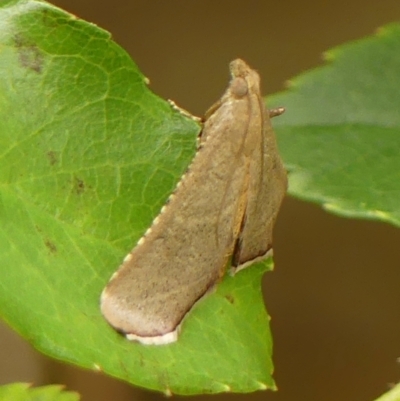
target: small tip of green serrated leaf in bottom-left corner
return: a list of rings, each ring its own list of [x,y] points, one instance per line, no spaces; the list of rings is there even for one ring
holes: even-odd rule
[[[26,383],[13,383],[0,386],[2,401],[78,401],[79,395],[63,391],[63,386],[51,385],[30,387]]]

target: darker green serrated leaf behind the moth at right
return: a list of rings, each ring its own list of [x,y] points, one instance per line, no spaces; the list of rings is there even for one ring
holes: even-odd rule
[[[400,25],[327,53],[271,105],[290,194],[400,225]]]

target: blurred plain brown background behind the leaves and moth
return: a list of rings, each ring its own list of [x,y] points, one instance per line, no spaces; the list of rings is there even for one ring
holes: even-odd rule
[[[400,17],[398,0],[53,3],[110,31],[155,93],[195,115],[220,97],[236,57],[260,72],[271,94],[322,65],[325,50]],[[399,244],[399,229],[287,198],[275,228],[275,271],[264,277],[279,391],[215,398],[364,401],[388,390],[400,378]],[[0,384],[64,383],[84,401],[164,398],[51,361],[4,325],[0,341]]]

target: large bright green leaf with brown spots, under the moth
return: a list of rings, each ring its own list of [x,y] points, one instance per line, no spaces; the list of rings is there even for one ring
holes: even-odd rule
[[[100,293],[174,189],[199,126],[110,35],[40,1],[0,6],[0,312],[36,348],[166,393],[274,388],[258,265],[199,302],[177,343],[127,341]]]

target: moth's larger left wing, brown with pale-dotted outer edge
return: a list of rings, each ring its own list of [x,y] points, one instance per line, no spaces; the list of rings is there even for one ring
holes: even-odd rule
[[[205,122],[188,172],[103,291],[103,315],[132,338],[163,343],[224,273],[244,213],[247,103],[223,102]]]

